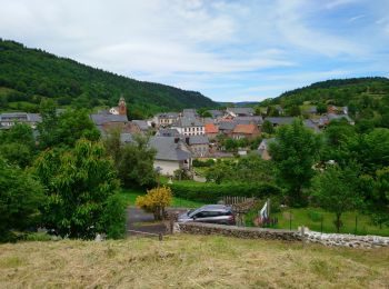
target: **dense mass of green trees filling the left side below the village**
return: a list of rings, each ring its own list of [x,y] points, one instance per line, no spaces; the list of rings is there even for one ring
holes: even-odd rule
[[[120,189],[156,183],[154,151],[141,137],[122,144],[112,131],[101,140],[86,110],[58,113],[43,101],[40,113],[36,132],[22,123],[0,130],[0,242],[38,227],[68,238],[123,237]]]

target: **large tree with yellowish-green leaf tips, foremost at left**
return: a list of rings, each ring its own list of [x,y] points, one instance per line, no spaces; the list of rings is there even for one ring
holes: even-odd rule
[[[46,228],[69,238],[109,235],[104,213],[112,207],[110,197],[119,181],[101,143],[80,139],[73,149],[47,150],[38,158],[34,173],[48,196],[41,209]]]

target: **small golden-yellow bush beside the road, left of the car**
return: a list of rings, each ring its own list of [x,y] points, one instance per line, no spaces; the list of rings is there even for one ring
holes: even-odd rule
[[[147,212],[152,212],[154,220],[161,220],[164,216],[166,207],[170,206],[171,201],[171,189],[169,187],[159,187],[148,190],[144,196],[138,196],[136,205]]]

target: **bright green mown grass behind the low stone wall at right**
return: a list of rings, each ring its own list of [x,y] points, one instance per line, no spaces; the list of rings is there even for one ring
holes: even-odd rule
[[[290,209],[272,215],[278,218],[277,228],[289,229],[289,212],[292,215],[291,228],[297,229],[299,226],[306,226],[310,230],[321,231],[321,217],[323,218],[322,231],[336,232],[333,225],[335,215],[325,211],[319,208],[303,208],[303,209]],[[357,217],[357,231],[356,231],[356,217]],[[379,228],[371,223],[369,216],[365,216],[358,212],[346,212],[342,218],[343,227],[340,229],[342,233],[357,233],[357,235],[379,235],[389,236],[389,227],[383,226]]]

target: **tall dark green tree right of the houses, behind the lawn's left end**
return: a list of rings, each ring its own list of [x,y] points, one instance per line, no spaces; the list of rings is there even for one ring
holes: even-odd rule
[[[276,165],[276,180],[287,189],[291,205],[305,205],[302,189],[313,176],[312,166],[318,158],[321,141],[307,129],[301,119],[281,126],[276,141],[270,143],[270,156]]]

